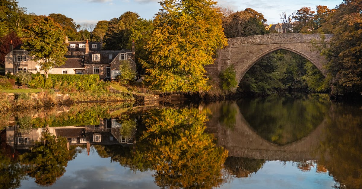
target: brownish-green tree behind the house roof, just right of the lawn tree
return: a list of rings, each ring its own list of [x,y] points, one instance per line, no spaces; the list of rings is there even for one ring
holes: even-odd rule
[[[76,24],[72,18],[68,18],[65,15],[59,13],[49,14],[49,17],[62,26],[62,29],[70,41],[77,41],[80,39],[80,37],[77,35],[77,29],[80,28],[80,25]]]

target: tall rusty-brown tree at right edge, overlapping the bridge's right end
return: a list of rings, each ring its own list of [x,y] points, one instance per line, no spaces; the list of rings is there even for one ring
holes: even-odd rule
[[[362,92],[361,10],[362,0],[344,0],[321,27],[334,33],[330,47],[323,51],[329,60],[327,70],[334,95]]]

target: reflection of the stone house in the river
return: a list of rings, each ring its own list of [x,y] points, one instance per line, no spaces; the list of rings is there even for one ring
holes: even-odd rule
[[[123,146],[133,144],[133,133],[131,136],[121,135],[122,124],[116,119],[101,119],[99,125],[62,126],[33,128],[29,131],[20,131],[18,126],[9,126],[6,129],[7,144],[14,150],[28,150],[39,141],[42,133],[49,132],[56,137],[65,137],[68,145],[87,145],[89,154],[92,144],[121,144]],[[69,148],[68,148],[69,149]]]

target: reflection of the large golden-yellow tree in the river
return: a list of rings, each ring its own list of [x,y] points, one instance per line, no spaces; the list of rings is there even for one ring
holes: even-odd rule
[[[134,150],[113,152],[112,160],[140,171],[154,170],[161,188],[219,186],[224,182],[221,170],[227,151],[215,145],[214,135],[204,132],[208,113],[196,108],[147,110]]]

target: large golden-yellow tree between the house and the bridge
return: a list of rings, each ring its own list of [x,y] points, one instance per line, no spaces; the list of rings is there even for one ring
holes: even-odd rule
[[[163,0],[153,20],[146,48],[151,55],[146,81],[163,92],[207,91],[203,66],[214,63],[215,50],[227,45],[221,13],[209,0]]]

